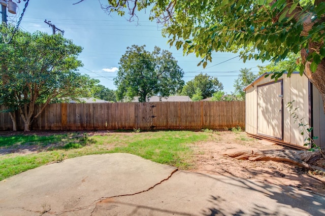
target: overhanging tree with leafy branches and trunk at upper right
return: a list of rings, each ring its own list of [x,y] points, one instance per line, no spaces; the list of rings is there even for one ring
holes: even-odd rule
[[[150,8],[150,19],[165,24],[170,45],[201,56],[203,66],[214,51],[240,51],[243,60],[286,58],[300,53],[301,74],[319,90],[325,107],[325,3],[322,0],[108,0],[109,13]],[[200,63],[201,63],[200,62]],[[292,73],[290,68],[288,73]],[[282,76],[274,73],[273,78]],[[325,111],[325,109],[324,109]]]

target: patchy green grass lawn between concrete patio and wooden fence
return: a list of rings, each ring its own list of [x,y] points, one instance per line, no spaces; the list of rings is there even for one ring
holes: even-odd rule
[[[86,133],[0,136],[0,150],[37,149],[35,153],[28,155],[13,153],[0,156],[0,181],[51,162],[83,155],[118,152],[188,169],[193,166],[192,143],[209,139],[210,133],[194,131],[125,132],[94,136]]]

